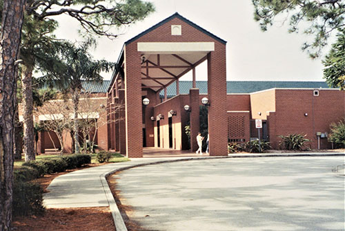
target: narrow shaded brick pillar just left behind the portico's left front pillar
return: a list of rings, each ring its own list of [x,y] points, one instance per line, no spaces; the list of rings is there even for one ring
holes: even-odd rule
[[[125,90],[119,89],[119,150],[120,153],[126,156],[126,121],[125,121]]]

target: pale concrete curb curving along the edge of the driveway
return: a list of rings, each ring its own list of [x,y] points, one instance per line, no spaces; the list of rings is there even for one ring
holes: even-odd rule
[[[235,158],[260,158],[260,157],[339,157],[344,156],[345,154],[342,153],[334,153],[334,154],[317,154],[317,153],[300,153],[300,154],[245,154],[245,155],[235,155],[235,156],[223,156],[223,157],[181,157],[181,159],[165,159],[163,161],[152,161],[148,163],[137,163],[133,165],[128,165],[126,167],[121,168],[115,168],[114,170],[111,170],[110,172],[104,172],[99,176],[99,179],[101,180],[101,183],[103,185],[104,193],[106,194],[106,198],[109,203],[110,212],[112,214],[112,219],[114,220],[115,229],[116,231],[128,231],[126,228],[126,224],[124,223],[124,219],[121,216],[121,212],[119,211],[119,208],[117,207],[117,204],[115,202],[114,197],[112,197],[112,192],[110,191],[108,182],[106,180],[107,177],[109,177],[111,174],[114,174],[115,172],[120,172],[124,170],[128,170],[130,168],[137,168],[141,166],[146,165],[153,165],[153,164],[159,164],[159,163],[173,163],[173,162],[180,162],[180,161],[199,161],[199,160],[207,160],[207,159],[235,159]],[[178,158],[178,157],[177,157]]]

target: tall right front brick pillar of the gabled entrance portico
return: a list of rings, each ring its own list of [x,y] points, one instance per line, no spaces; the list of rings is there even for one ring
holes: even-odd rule
[[[208,53],[208,133],[210,155],[228,155],[226,121],[226,47],[215,43],[215,51]]]

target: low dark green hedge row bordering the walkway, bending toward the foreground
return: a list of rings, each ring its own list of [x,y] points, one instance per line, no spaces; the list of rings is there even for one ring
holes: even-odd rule
[[[23,163],[21,168],[17,168],[13,172],[12,214],[25,216],[41,214],[44,211],[43,190],[41,185],[32,182],[33,179],[43,177],[45,174],[79,168],[88,163],[91,163],[91,156],[88,154],[73,154],[59,159]]]

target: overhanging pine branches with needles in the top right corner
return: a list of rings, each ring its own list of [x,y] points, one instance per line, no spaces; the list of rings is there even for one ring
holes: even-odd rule
[[[306,41],[302,50],[311,58],[319,57],[328,38],[338,28],[345,28],[344,0],[252,0],[255,7],[255,20],[259,21],[262,30],[276,23],[277,17],[288,21],[288,32],[299,32],[311,35],[313,41]],[[303,23],[302,23],[303,22]],[[302,24],[302,25],[300,25]]]

